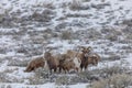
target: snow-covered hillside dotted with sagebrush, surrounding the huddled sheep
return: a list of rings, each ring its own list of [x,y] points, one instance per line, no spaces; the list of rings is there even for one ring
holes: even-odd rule
[[[51,76],[23,72],[46,47],[56,54],[79,45],[101,56],[98,66]],[[131,87],[131,57],[132,0],[0,0],[0,88],[106,88],[116,77]]]

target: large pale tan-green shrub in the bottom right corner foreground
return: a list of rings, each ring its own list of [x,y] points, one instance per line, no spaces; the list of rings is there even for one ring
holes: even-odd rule
[[[132,77],[127,74],[116,74],[107,79],[94,81],[91,88],[129,88],[132,85]]]

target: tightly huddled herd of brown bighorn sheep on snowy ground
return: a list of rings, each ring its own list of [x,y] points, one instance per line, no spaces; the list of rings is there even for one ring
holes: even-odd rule
[[[97,53],[91,52],[91,47],[79,46],[79,51],[68,50],[65,54],[53,55],[50,51],[44,53],[44,56],[34,58],[28,64],[24,72],[32,72],[38,67],[48,67],[50,73],[68,73],[70,69],[80,72],[88,65],[98,65],[100,56]]]

